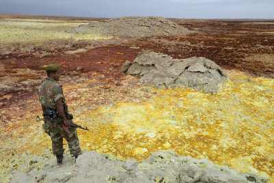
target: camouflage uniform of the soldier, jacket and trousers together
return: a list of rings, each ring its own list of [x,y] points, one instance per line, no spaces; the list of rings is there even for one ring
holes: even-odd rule
[[[47,80],[39,86],[38,95],[40,103],[42,106],[45,106],[45,108],[57,109],[56,101],[60,98],[62,98],[63,103],[65,101],[62,86],[51,78],[47,78]],[[71,154],[73,154],[73,156],[82,154],[82,151],[79,147],[79,138],[77,136],[75,127],[69,127],[69,131],[71,131],[70,135],[64,132],[62,124],[54,125],[54,123],[49,120],[47,120],[42,125],[42,127],[44,128],[45,132],[51,136],[54,155],[64,154],[63,138],[65,138],[68,142],[69,151]]]

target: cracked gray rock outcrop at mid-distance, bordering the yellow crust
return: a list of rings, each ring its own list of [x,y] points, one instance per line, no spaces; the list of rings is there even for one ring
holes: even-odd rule
[[[134,62],[126,61],[123,69],[130,75],[142,76],[140,82],[155,86],[190,87],[213,93],[227,82],[227,74],[206,58],[173,59],[161,53],[142,51]]]

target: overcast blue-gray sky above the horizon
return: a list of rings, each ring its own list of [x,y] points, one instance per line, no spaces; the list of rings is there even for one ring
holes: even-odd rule
[[[274,19],[274,0],[0,0],[0,12],[109,18]]]

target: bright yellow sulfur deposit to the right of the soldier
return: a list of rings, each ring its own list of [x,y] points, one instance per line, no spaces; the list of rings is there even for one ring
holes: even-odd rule
[[[110,154],[123,158],[142,160],[151,151],[173,149],[239,171],[273,176],[274,80],[248,79],[236,71],[229,75],[227,86],[217,95],[155,89],[158,94],[147,102],[99,108],[100,115],[112,114],[105,129],[110,131],[100,138],[108,138],[108,144],[116,147],[108,149]],[[96,114],[88,116],[97,119]],[[88,138],[94,141],[92,135]],[[125,151],[127,144],[134,151]]]

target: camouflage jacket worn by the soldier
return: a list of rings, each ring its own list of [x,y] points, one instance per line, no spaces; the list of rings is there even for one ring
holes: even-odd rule
[[[60,98],[62,98],[63,103],[65,101],[62,86],[49,77],[39,86],[38,97],[45,108],[57,109],[56,101]]]

